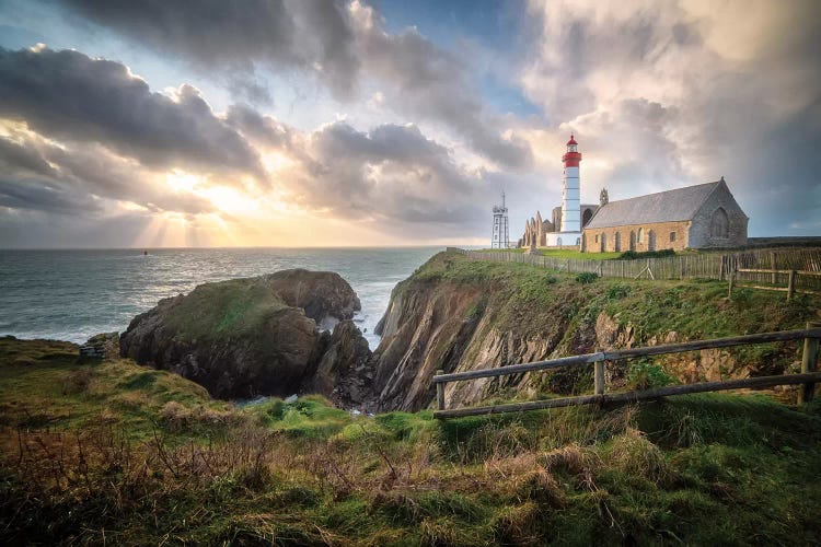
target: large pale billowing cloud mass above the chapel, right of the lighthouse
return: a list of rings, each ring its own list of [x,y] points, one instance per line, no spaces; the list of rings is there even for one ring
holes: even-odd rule
[[[751,234],[810,224],[799,196],[819,188],[818,2],[532,1],[529,14],[539,32],[520,81],[546,131],[577,133],[588,199],[725,175]]]

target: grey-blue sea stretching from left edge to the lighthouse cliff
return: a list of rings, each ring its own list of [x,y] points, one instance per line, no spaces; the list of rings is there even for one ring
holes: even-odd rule
[[[391,290],[442,247],[0,251],[0,336],[83,342],[123,331],[160,299],[197,284],[289,268],[336,271],[362,303],[371,348]]]

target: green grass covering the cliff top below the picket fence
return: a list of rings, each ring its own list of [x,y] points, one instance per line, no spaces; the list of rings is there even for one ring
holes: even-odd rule
[[[395,292],[418,295],[433,291],[447,301],[451,294],[469,293],[465,288],[477,294],[475,303],[466,303],[467,315],[478,323],[474,339],[517,333],[522,339],[544,340],[556,357],[595,351],[606,344],[599,339],[605,327],[622,337],[621,344],[629,340],[640,347],[802,328],[806,322],[818,321],[821,310],[818,296],[800,295],[786,302],[780,293],[751,289],[740,289],[728,300],[727,283],[720,281],[582,278],[527,264],[470,260],[456,253],[435,256]],[[425,298],[435,301],[436,294]],[[702,353],[662,356],[651,363],[661,366],[666,375],[691,382],[775,374],[795,368],[800,361],[799,346],[730,348],[720,353],[720,369],[713,354]],[[479,356],[470,351],[462,361],[478,362]],[[625,362],[623,372],[629,368]],[[588,376],[582,370],[558,371],[533,380],[531,387],[578,393],[586,387],[580,379]],[[622,373],[615,380],[631,381]]]

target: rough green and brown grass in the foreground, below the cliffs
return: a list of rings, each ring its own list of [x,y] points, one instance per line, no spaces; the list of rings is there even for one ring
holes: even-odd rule
[[[821,406],[705,395],[438,422],[236,409],[129,361],[0,340],[0,540],[811,544]]]

